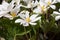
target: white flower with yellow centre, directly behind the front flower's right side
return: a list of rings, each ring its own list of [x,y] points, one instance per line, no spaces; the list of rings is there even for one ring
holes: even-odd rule
[[[37,8],[35,8],[33,12],[42,14],[43,12],[46,12],[47,10],[48,10],[47,4],[42,1],[39,1]]]

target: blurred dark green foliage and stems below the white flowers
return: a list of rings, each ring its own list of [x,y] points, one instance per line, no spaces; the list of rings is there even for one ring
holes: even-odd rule
[[[6,1],[10,2],[11,0]],[[0,0],[0,4],[1,2],[2,0]],[[60,3],[56,3],[55,5],[57,7],[55,11],[58,11]],[[45,19],[46,15],[42,15],[42,22],[37,22],[38,25],[34,26],[34,28],[15,24],[14,21],[16,18],[9,20],[2,17],[0,18],[0,37],[5,38],[5,40],[60,40],[60,20],[55,21],[54,18],[49,15],[52,14],[53,11],[51,8],[48,10],[47,19],[49,20],[47,21],[49,22]]]

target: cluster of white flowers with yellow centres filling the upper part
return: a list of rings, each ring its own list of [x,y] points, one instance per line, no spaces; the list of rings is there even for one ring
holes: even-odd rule
[[[22,5],[21,1],[25,2],[26,5]],[[0,4],[0,18],[6,17],[13,20],[19,16],[20,19],[17,19],[15,23],[23,24],[23,26],[36,25],[36,21],[41,20],[40,14],[46,12],[49,8],[56,9],[54,3],[57,2],[60,2],[60,0],[12,0],[10,3],[3,0]],[[32,15],[28,10],[21,11],[21,7],[31,9]]]

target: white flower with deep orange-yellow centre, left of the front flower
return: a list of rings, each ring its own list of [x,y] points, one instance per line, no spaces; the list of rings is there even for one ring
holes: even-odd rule
[[[18,17],[18,12],[20,11],[20,5],[16,6],[13,8],[11,11],[9,11],[9,14],[4,15],[4,17],[9,18],[12,20],[15,17]]]

